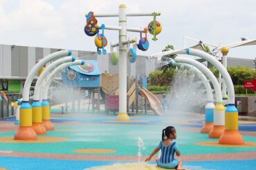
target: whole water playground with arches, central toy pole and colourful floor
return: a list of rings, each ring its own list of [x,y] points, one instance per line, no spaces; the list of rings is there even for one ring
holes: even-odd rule
[[[129,19],[142,16],[153,17],[146,28],[127,27]],[[165,62],[166,67],[176,68],[172,93],[167,94],[175,110],[166,109],[163,99],[149,92],[147,78],[127,77],[127,62],[136,63],[137,50],[145,51],[149,41],[158,40],[162,25],[156,17],[160,16],[161,12],[128,13],[124,4],[118,13],[87,13],[84,32],[95,36],[98,55],[107,54],[105,30],[119,32],[119,42],[110,44],[111,63],[119,65],[118,73],[100,70],[98,61],[77,59],[72,50],[44,56],[29,72],[22,98],[10,101],[16,116],[0,120],[0,169],[160,170],[155,159],[144,160],[161,140],[163,128],[170,125],[176,128],[181,151],[176,159],[183,161],[184,169],[253,169],[256,121],[239,118],[226,70],[229,47],[217,49],[223,64],[214,53],[194,48],[147,57],[177,55]],[[116,17],[118,25],[99,24],[100,17]],[[127,39],[127,32],[140,36]],[[208,67],[180,54],[211,63],[222,75],[222,85]],[[61,81],[56,81],[56,75]],[[201,98],[195,99],[196,94]],[[60,98],[57,105],[50,104],[54,95]],[[6,102],[4,92],[0,100]],[[203,114],[179,110],[186,105],[203,108]]]

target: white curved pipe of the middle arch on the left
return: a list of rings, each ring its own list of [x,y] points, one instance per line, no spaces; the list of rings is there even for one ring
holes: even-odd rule
[[[55,68],[58,65],[61,65],[62,63],[67,63],[67,62],[73,62],[75,61],[75,56],[66,56],[62,59],[58,59],[57,61],[54,61],[53,63],[51,63],[50,65],[48,65],[46,67],[46,69],[44,70],[44,72],[42,72],[42,74],[40,74],[39,78],[37,79],[37,83],[35,84],[35,90],[34,90],[34,98],[33,100],[39,100],[40,97],[40,89],[42,86],[42,82],[44,81],[44,79],[46,78],[46,76],[52,72],[53,70],[55,70]]]

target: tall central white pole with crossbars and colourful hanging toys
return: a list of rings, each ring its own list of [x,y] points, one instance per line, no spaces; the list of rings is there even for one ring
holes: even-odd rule
[[[140,41],[138,43],[139,50],[147,50],[149,48],[149,41],[147,39],[147,30],[149,28],[149,33],[154,34],[153,40],[156,41],[156,34],[159,34],[162,29],[161,23],[156,23],[156,16],[159,16],[160,12],[152,12],[152,13],[127,13],[126,6],[124,4],[119,6],[118,14],[94,14],[93,12],[89,12],[86,14],[86,25],[84,27],[84,32],[86,35],[94,36],[98,34],[99,29],[102,29],[101,39],[99,36],[95,37],[95,45],[98,47],[98,54],[100,54],[99,48],[102,48],[103,54],[105,53],[104,47],[107,45],[107,39],[104,35],[104,30],[118,30],[119,31],[119,114],[116,120],[118,121],[129,121],[130,118],[127,115],[127,44],[132,43],[133,41],[127,40],[127,31],[128,32],[145,32],[145,37],[140,37]],[[148,28],[138,29],[138,28],[127,28],[127,17],[138,17],[138,16],[154,16],[154,20],[149,23]],[[102,24],[101,26],[97,25],[98,21],[95,17],[119,17],[119,26],[109,26]],[[115,45],[115,46],[117,46]],[[112,45],[111,45],[112,46]],[[116,63],[117,55],[115,55],[115,61],[112,63]],[[136,57],[134,50],[129,51],[129,56],[131,57],[130,62],[134,62]]]

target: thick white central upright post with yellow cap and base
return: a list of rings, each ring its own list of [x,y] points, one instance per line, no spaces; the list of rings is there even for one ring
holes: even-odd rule
[[[123,45],[122,41],[127,40],[127,17],[126,6],[121,4],[119,6],[119,26],[122,30],[119,31],[119,114],[116,120],[129,121],[127,114],[127,45]]]

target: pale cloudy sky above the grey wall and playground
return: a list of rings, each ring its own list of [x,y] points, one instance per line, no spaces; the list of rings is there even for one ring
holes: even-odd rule
[[[149,50],[140,55],[161,52],[166,45],[183,48],[183,36],[215,45],[256,39],[255,0],[0,0],[0,44],[55,47],[96,51],[94,36],[84,34],[86,18],[95,14],[118,13],[124,3],[127,12],[161,12],[156,20],[163,25],[158,41],[148,35]],[[97,18],[98,23],[118,26],[118,17]],[[127,17],[127,27],[145,28],[153,17]],[[118,31],[105,30],[110,43],[118,43]],[[128,32],[140,39],[138,32]],[[187,45],[196,45],[187,40]],[[107,46],[107,52],[110,51]],[[228,56],[255,59],[256,45],[236,47]]]

